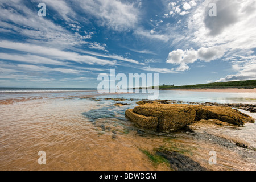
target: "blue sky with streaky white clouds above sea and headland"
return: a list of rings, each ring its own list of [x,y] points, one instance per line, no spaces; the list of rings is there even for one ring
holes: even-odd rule
[[[0,0],[0,86],[97,88],[110,69],[159,85],[253,80],[255,24],[256,0]]]

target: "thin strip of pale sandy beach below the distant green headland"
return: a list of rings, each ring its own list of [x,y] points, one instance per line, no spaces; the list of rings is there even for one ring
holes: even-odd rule
[[[175,90],[189,91],[189,92],[256,93],[256,89],[175,89]]]

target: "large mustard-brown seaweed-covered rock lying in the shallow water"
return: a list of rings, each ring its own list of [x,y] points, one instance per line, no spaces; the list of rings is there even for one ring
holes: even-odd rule
[[[182,105],[182,104],[143,104],[126,111],[126,117],[144,129],[170,132],[191,125],[202,119],[215,119],[220,122],[242,126],[254,119],[229,107]]]

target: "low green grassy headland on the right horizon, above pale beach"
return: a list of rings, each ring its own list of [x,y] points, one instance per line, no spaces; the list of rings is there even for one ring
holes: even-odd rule
[[[210,84],[198,84],[198,85],[184,85],[184,86],[173,86],[173,85],[163,85],[159,86],[160,90],[164,89],[225,89],[225,88],[256,88],[256,80],[246,80],[246,81],[229,81],[229,82],[215,82]]]

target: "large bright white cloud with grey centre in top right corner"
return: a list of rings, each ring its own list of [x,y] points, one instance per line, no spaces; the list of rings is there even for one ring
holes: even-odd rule
[[[217,17],[212,18],[208,15],[209,2],[205,0],[188,19],[187,35],[192,42],[204,47],[222,44],[226,49],[233,50],[256,47],[256,37],[251,36],[256,31],[255,1],[216,1],[219,5]]]

